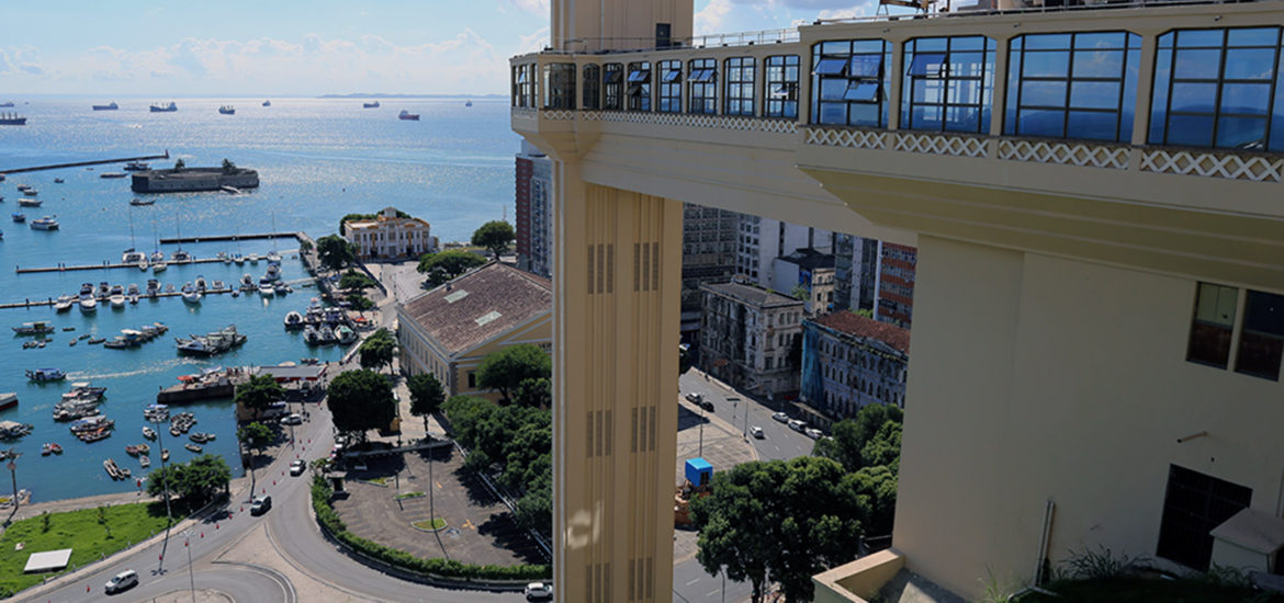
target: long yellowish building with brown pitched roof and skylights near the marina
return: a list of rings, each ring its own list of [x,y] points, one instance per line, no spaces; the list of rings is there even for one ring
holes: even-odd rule
[[[547,278],[490,262],[397,305],[402,369],[431,373],[447,396],[498,400],[498,391],[478,387],[478,367],[511,345],[551,350],[551,310]]]

